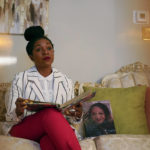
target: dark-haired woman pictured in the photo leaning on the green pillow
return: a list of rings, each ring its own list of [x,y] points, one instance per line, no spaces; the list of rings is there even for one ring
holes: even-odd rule
[[[95,137],[104,134],[115,134],[115,126],[109,105],[97,102],[84,114],[85,136]]]

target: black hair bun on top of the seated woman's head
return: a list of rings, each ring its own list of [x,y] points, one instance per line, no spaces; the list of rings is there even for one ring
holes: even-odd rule
[[[24,38],[31,41],[44,36],[44,30],[41,26],[30,26],[24,32]]]

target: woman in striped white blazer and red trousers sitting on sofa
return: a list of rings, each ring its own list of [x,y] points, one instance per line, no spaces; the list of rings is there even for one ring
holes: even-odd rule
[[[54,47],[40,26],[25,30],[26,51],[35,66],[18,73],[12,83],[7,121],[16,121],[11,136],[38,141],[42,150],[81,150],[76,135],[60,111],[28,110],[24,99],[62,104],[74,96],[72,81],[52,67]]]

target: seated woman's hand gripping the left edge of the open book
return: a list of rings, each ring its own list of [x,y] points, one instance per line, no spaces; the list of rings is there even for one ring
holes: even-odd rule
[[[16,104],[16,114],[17,114],[17,116],[21,116],[24,113],[24,109],[27,108],[27,104],[25,102],[25,99],[17,98],[15,104]]]

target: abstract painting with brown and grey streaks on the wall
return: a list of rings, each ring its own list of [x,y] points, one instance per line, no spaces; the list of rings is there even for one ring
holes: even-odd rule
[[[23,34],[32,25],[48,31],[49,0],[1,0],[0,33]]]

